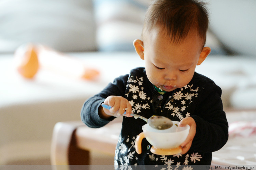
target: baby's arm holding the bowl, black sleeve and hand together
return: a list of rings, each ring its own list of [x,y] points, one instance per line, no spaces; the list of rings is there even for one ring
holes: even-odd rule
[[[216,85],[209,87],[211,90],[205,92],[206,97],[195,110],[196,114],[184,118],[179,124],[190,126],[189,134],[181,144],[181,154],[190,148],[200,152],[214,152],[227,142],[228,123],[222,107],[221,89]]]

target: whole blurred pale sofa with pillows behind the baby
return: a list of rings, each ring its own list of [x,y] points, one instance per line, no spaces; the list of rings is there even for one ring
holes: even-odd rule
[[[79,121],[88,97],[118,75],[143,66],[132,42],[140,38],[150,2],[0,0],[0,165],[50,164],[54,125]],[[221,86],[225,109],[255,109],[256,1],[205,2],[210,14],[207,46],[212,52],[198,72]],[[98,69],[101,77],[83,81],[40,71],[25,79],[13,62],[15,50],[27,43],[79,58]]]

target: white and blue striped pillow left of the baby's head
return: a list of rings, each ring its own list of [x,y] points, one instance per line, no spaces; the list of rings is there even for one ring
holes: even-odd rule
[[[94,0],[100,51],[134,51],[151,0]]]

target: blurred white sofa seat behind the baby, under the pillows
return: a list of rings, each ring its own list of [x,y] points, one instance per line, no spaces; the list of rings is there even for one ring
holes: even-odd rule
[[[143,60],[135,52],[70,53],[69,56],[77,57],[86,65],[98,69],[101,73],[100,77],[95,81],[84,81],[40,69],[34,79],[27,80],[13,68],[12,55],[1,55],[0,106],[93,95],[119,75],[129,73],[132,68],[144,66]],[[242,108],[230,103],[234,101],[230,97],[239,90],[244,90],[245,93],[246,90],[256,89],[256,59],[254,58],[210,55],[200,66],[197,66],[196,71],[213,79],[222,88],[224,106]],[[90,90],[87,90],[88,87]],[[255,94],[250,94],[250,97],[255,98]],[[249,96],[241,99],[241,101],[244,100],[246,102],[243,104],[246,105],[255,104],[256,101],[253,98],[249,99]],[[251,105],[253,106],[255,105]]]

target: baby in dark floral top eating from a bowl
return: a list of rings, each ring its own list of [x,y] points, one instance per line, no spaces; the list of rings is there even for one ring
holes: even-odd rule
[[[195,72],[211,52],[204,47],[208,29],[205,4],[196,0],[155,0],[149,6],[141,40],[133,45],[145,68],[120,76],[99,94],[89,98],[81,110],[89,127],[106,125],[126,111],[116,146],[115,165],[210,165],[212,152],[228,140],[228,123],[221,88]],[[101,103],[112,106],[110,110]],[[142,141],[142,153],[134,141],[145,121],[130,113],[150,118],[162,115],[179,126],[190,126],[182,152],[175,155],[151,153]]]

